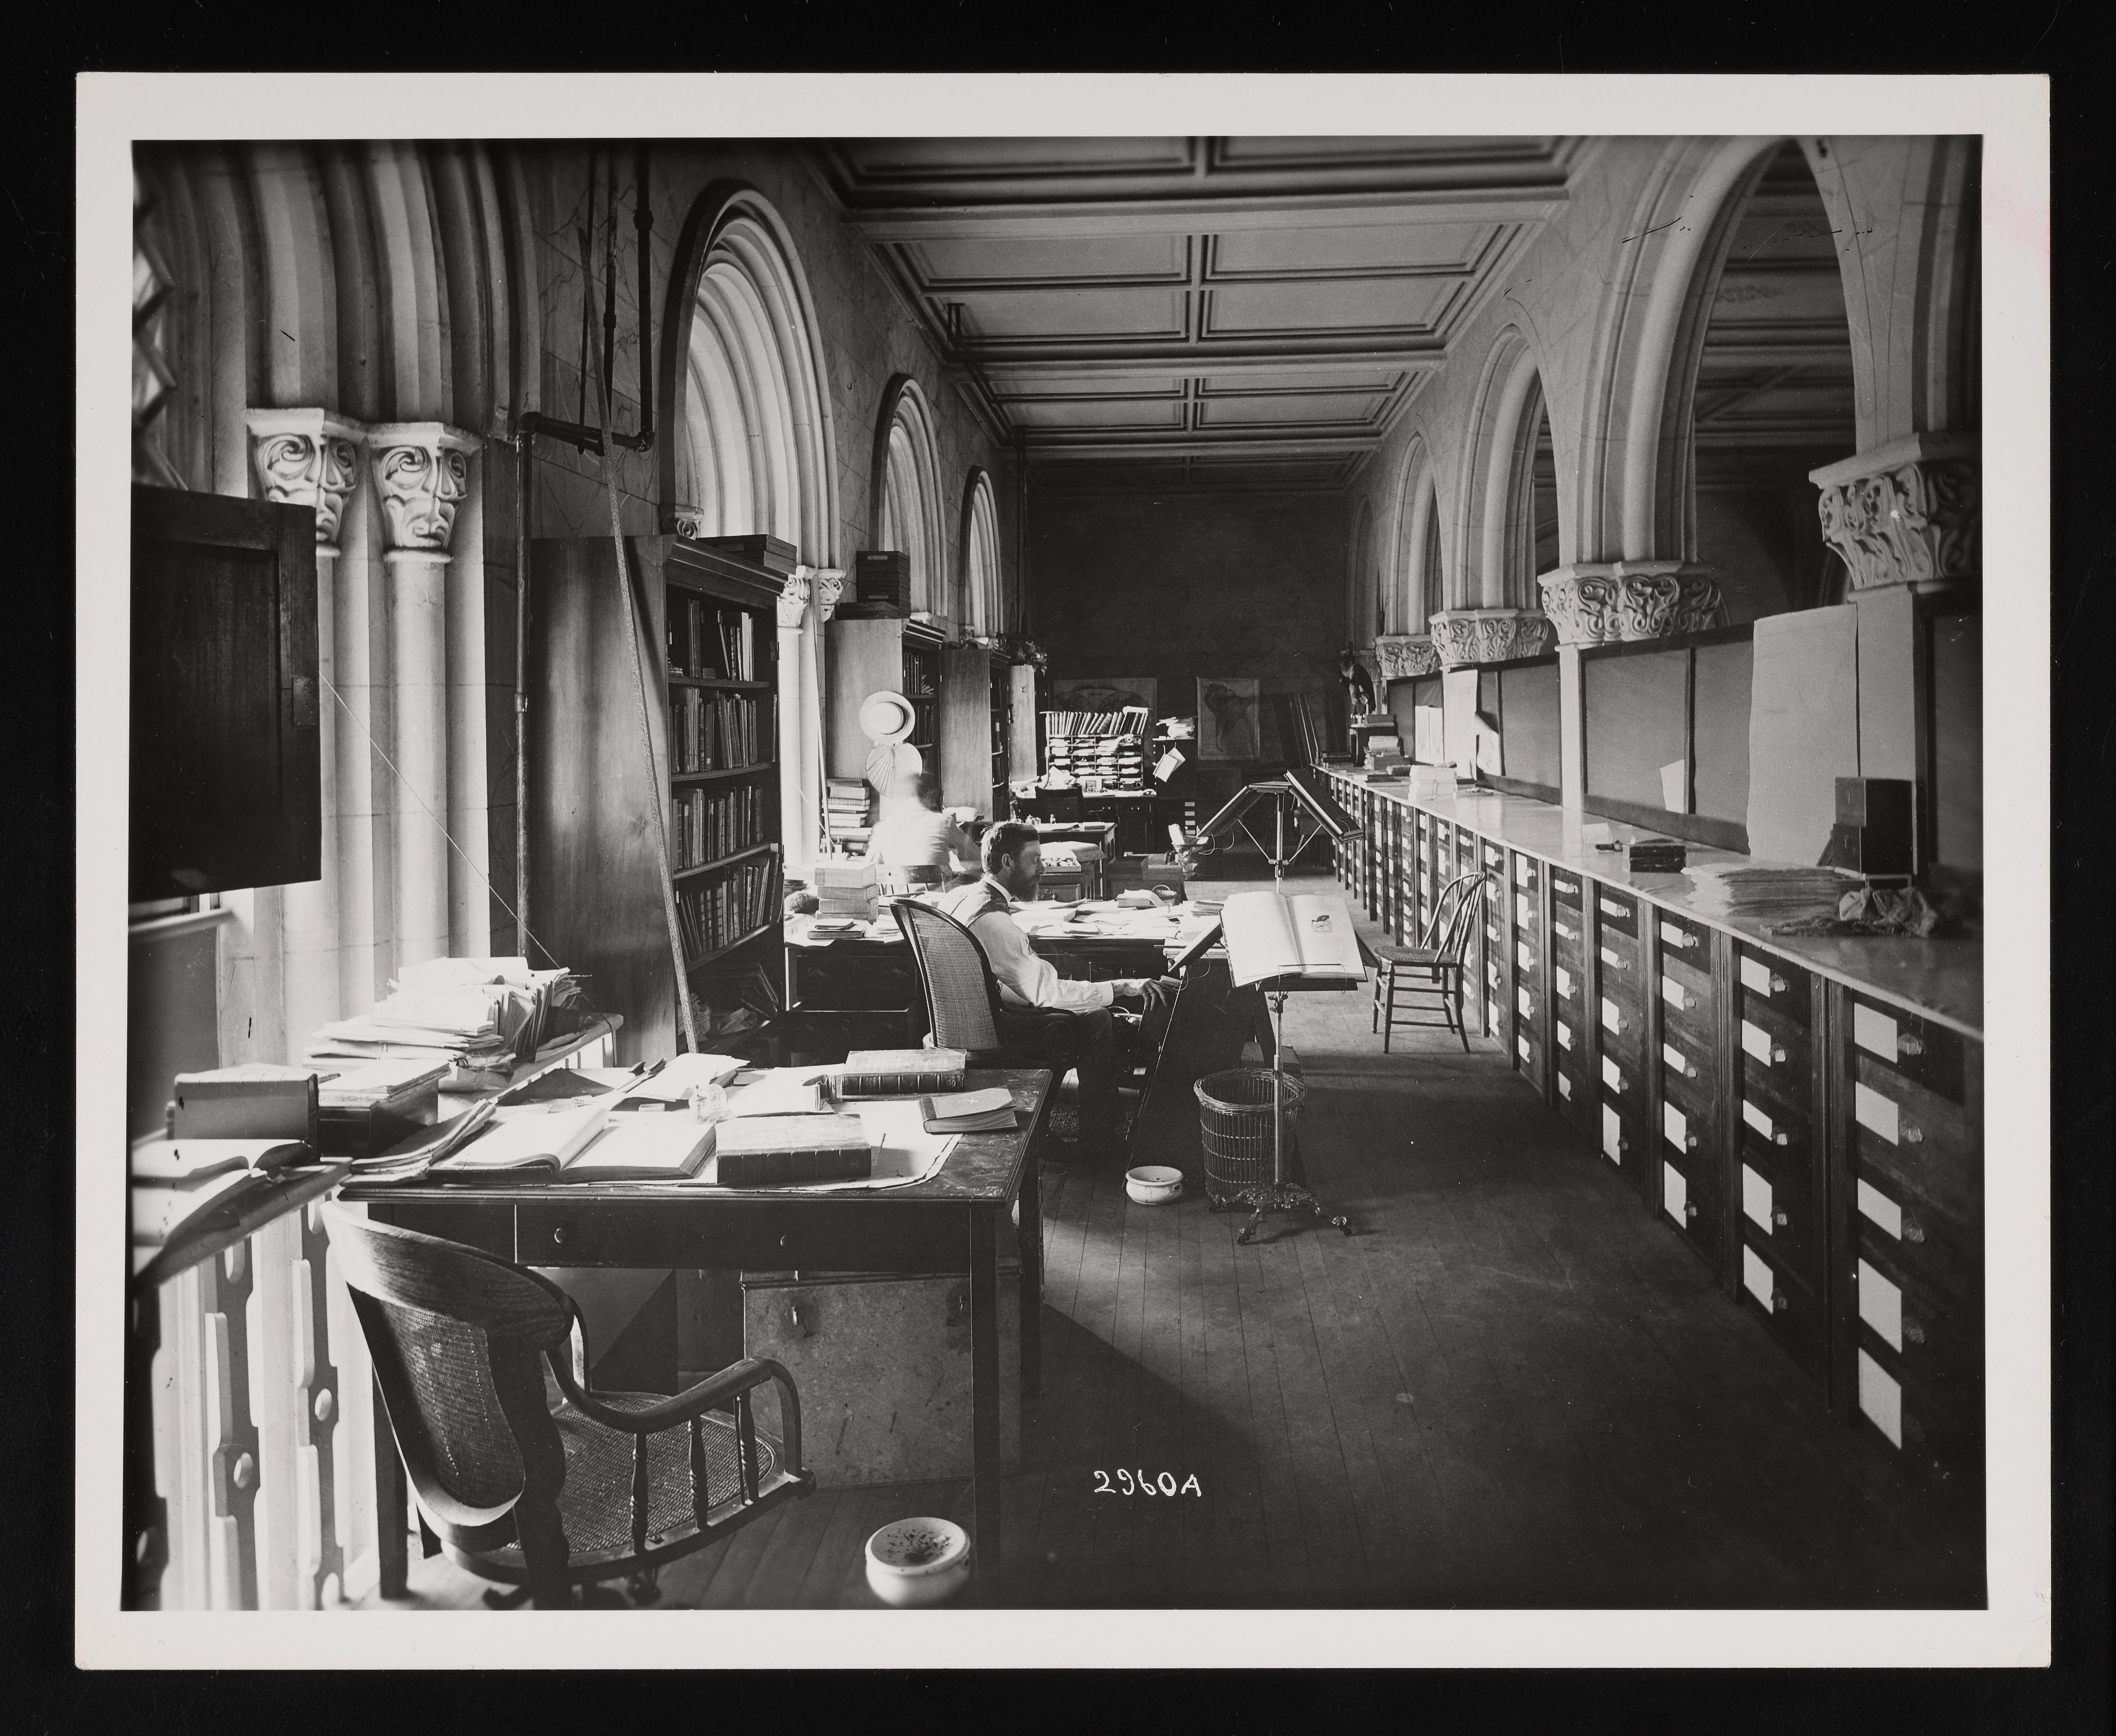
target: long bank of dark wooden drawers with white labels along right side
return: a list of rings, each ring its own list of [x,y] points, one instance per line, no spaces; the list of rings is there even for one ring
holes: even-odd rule
[[[1981,1539],[1981,943],[1765,935],[1598,856],[1547,801],[1331,780],[1365,825],[1337,850],[1352,897],[1409,941],[1452,875],[1483,875],[1483,1034]]]

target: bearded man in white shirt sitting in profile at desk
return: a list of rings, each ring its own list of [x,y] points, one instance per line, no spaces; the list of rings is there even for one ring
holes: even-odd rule
[[[1073,1013],[1079,1146],[1086,1155],[1105,1155],[1115,1144],[1117,1131],[1117,1026],[1109,1009],[1117,1000],[1138,1002],[1143,1011],[1164,1006],[1174,1000],[1181,981],[1117,977],[1107,983],[1081,983],[1060,977],[1050,960],[1028,945],[1028,937],[1011,916],[1018,903],[1035,899],[1041,878],[1043,846],[1037,842],[1037,829],[1020,820],[1001,820],[984,835],[984,880],[948,892],[937,909],[978,937],[999,979],[1001,1013],[1007,1006],[1062,1006]]]

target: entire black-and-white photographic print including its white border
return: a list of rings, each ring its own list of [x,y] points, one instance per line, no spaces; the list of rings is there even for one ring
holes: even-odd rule
[[[80,80],[85,1666],[2048,1660],[2042,78],[446,82]]]

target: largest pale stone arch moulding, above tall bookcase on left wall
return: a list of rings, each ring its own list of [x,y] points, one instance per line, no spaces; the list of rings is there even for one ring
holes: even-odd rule
[[[785,220],[753,186],[711,182],[683,218],[662,311],[660,529],[766,531],[810,565],[838,565],[823,378],[815,298]],[[698,450],[715,423],[741,427],[743,450],[726,436]]]

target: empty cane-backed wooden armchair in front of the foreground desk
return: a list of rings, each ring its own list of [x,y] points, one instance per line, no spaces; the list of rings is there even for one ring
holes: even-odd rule
[[[489,1605],[569,1607],[620,1575],[652,1603],[662,1563],[813,1493],[777,1362],[673,1398],[590,1391],[580,1309],[550,1279],[343,1205],[324,1220],[423,1522],[457,1567],[523,1588]],[[751,1417],[766,1383],[777,1440]]]

